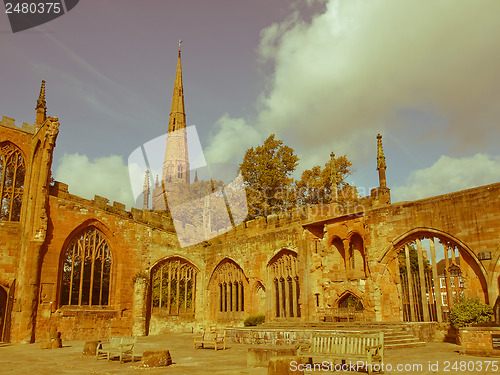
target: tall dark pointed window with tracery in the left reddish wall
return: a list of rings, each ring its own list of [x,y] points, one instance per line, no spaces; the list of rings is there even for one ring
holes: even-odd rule
[[[63,258],[61,305],[108,305],[111,261],[109,243],[96,227],[74,236]]]

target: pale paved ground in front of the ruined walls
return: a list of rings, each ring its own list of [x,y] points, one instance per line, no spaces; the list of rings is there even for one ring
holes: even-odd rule
[[[193,349],[191,334],[140,337],[136,353],[167,349],[174,364],[164,368],[142,368],[141,363],[97,361],[83,356],[83,341],[64,342],[62,349],[40,349],[40,344],[1,345],[0,374],[249,374],[265,375],[266,368],[246,366],[249,345],[232,344],[229,349]],[[424,347],[386,350],[384,374],[495,374],[500,373],[500,356],[474,357],[458,354],[460,346],[429,343]],[[399,365],[399,367],[398,367]],[[401,367],[402,366],[402,367]],[[486,367],[489,367],[486,369]],[[314,374],[350,374],[356,371],[306,371]],[[351,368],[352,370],[352,368]],[[360,372],[363,373],[363,372]]]

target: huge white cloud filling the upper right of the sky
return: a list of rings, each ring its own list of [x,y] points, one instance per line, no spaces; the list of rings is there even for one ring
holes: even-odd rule
[[[498,131],[500,2],[330,0],[325,9],[262,30],[259,56],[274,73],[255,123],[221,118],[210,145],[218,160],[236,155],[237,130],[237,147],[276,133],[304,160],[325,149],[362,162],[377,133],[413,125],[398,116],[405,109],[444,118],[438,132],[418,124],[415,142],[452,134],[452,147],[471,152]]]

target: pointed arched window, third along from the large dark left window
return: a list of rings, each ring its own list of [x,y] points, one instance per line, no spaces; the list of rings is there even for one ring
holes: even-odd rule
[[[212,272],[208,283],[210,315],[217,320],[242,318],[248,294],[248,278],[233,259],[222,259]]]

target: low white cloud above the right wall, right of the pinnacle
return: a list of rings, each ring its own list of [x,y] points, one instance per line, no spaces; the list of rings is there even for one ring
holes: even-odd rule
[[[500,156],[441,156],[429,168],[413,171],[404,186],[391,189],[393,202],[451,193],[500,181]]]

